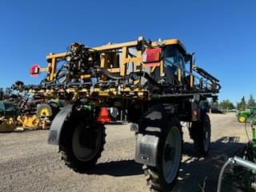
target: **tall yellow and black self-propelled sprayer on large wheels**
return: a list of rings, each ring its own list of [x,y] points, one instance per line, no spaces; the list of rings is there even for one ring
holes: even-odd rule
[[[73,43],[65,53],[49,54],[37,85],[16,89],[66,105],[50,126],[48,142],[58,145],[66,166],[86,170],[101,157],[105,144],[102,107],[126,114],[136,133],[135,161],[144,164],[152,190],[174,186],[182,158],[182,127],[189,122],[198,155],[210,150],[207,98],[217,99],[218,79],[194,65],[178,39],[107,44],[94,48]]]

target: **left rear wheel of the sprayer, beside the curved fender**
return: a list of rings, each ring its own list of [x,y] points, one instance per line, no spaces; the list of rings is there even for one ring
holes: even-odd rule
[[[76,122],[66,122],[59,150],[66,166],[81,172],[95,166],[101,157],[106,143],[106,133],[105,126],[100,123],[90,120]]]

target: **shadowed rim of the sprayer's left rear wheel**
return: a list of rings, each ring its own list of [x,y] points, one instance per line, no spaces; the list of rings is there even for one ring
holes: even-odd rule
[[[94,128],[96,129],[96,127]],[[76,158],[78,158],[78,160],[82,162],[87,162],[94,158],[101,146],[101,128],[98,127],[98,129],[95,130],[94,134],[96,134],[96,136],[93,137],[93,139],[90,137],[91,135],[89,135],[89,129],[91,131],[90,126],[85,126],[82,123],[77,126],[73,134],[72,148],[74,155]]]

